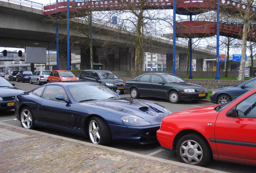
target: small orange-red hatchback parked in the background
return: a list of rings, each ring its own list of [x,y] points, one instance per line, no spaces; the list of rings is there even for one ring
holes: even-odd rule
[[[66,80],[78,80],[78,78],[68,70],[53,70],[47,78],[47,83]]]

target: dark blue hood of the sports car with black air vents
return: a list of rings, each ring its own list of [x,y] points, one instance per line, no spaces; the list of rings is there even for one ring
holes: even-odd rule
[[[151,125],[161,124],[162,119],[169,115],[169,113],[164,110],[164,107],[157,103],[125,97],[88,101],[79,103],[79,105],[93,106],[98,111],[104,110],[106,114],[111,113],[111,115],[119,115],[120,117],[125,115],[135,115],[145,119],[151,123]]]

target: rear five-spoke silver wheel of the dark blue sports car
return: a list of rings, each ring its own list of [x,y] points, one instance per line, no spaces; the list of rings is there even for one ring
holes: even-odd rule
[[[35,119],[28,107],[24,107],[21,109],[20,113],[21,126],[26,129],[34,129],[35,127]]]

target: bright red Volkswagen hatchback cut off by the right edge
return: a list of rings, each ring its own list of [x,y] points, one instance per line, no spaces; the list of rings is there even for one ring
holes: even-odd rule
[[[213,158],[256,165],[256,88],[224,105],[168,115],[157,139],[183,163],[205,166]]]

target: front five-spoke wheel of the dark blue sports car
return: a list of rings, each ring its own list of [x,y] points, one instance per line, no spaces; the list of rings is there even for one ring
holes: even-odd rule
[[[107,123],[99,117],[91,117],[88,124],[88,137],[91,143],[99,145],[110,145],[112,142],[111,133]]]

